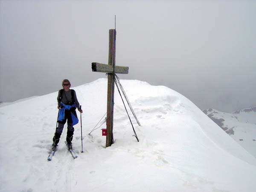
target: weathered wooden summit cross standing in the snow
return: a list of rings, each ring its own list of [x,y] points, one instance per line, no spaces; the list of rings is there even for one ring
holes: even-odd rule
[[[92,63],[92,70],[108,73],[107,137],[106,147],[113,144],[113,109],[115,73],[128,74],[129,67],[116,66],[116,29],[109,29],[108,64]]]

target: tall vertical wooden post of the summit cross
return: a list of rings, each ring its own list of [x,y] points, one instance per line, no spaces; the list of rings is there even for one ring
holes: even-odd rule
[[[115,88],[115,57],[116,57],[116,30],[109,29],[108,64],[113,65],[113,73],[108,73],[108,101],[107,101],[107,137],[106,147],[113,144],[113,109]]]

